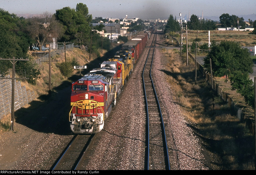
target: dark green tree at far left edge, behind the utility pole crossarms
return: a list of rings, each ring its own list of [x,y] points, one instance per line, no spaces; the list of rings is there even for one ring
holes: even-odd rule
[[[8,11],[0,9],[0,57],[2,58],[26,58],[31,39],[26,31],[26,20],[19,18]],[[31,60],[31,58],[29,58]],[[12,64],[9,61],[0,60],[0,74],[8,74]],[[20,77],[29,78],[28,82],[35,84],[40,71],[33,61],[18,61],[16,73]]]

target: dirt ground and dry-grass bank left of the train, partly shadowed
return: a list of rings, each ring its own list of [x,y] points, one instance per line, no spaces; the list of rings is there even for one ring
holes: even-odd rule
[[[89,59],[88,52],[74,48],[67,52],[67,60],[75,58],[79,65],[87,65],[87,69],[81,72],[84,75],[112,55],[116,49],[109,52],[103,50],[102,57],[98,58],[91,54]],[[64,54],[53,60],[63,62]],[[52,62],[51,96],[48,95],[49,65],[46,62],[39,65],[41,75],[37,85],[22,82],[27,89],[35,91],[37,99],[15,111],[14,132],[0,126],[1,170],[50,169],[70,141],[72,133],[67,115],[70,110],[70,86],[80,76],[78,70],[71,77],[62,76],[58,68],[60,62]],[[5,118],[8,121],[10,115]]]

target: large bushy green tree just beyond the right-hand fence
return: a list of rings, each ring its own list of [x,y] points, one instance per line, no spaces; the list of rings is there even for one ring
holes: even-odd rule
[[[253,62],[248,49],[241,48],[233,41],[221,41],[220,44],[213,42],[209,54],[204,59],[204,66],[208,71],[210,71],[210,58],[214,75],[229,75],[232,88],[236,89],[250,106],[253,106],[254,86],[249,78]]]

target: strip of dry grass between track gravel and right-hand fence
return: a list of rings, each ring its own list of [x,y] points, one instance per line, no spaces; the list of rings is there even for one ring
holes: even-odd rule
[[[227,104],[215,96],[205,78],[198,73],[197,84],[192,60],[186,66],[185,55],[164,49],[167,81],[173,87],[175,100],[184,108],[184,116],[205,145],[212,169],[254,169],[253,137],[233,115]]]

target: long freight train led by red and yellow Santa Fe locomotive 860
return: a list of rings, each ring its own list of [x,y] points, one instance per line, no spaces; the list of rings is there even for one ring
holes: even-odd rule
[[[96,133],[116,103],[116,97],[146,46],[151,33],[141,33],[122,45],[122,50],[72,83],[70,128],[74,133]]]

